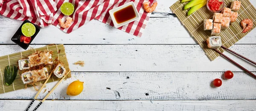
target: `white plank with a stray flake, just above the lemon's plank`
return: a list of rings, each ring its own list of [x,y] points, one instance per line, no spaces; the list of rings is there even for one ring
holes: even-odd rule
[[[44,47],[45,45],[31,45]],[[0,56],[23,51],[17,45],[1,45]],[[242,71],[223,57],[210,61],[199,45],[64,45],[71,71],[79,72],[209,72]],[[256,45],[237,44],[231,50],[256,61]],[[225,52],[250,71],[255,65]],[[73,65],[84,61],[84,67]],[[212,66],[216,66],[212,68]]]

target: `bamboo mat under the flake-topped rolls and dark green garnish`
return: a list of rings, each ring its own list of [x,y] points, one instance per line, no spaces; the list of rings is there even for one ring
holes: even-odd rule
[[[13,53],[10,55],[5,55],[5,56],[0,57],[0,78],[1,78],[0,79],[0,94],[6,93],[6,92],[12,92],[12,91],[15,91],[18,89],[24,89],[24,87],[25,87],[25,84],[23,84],[23,81],[20,78],[19,71],[17,72],[18,74],[17,74],[14,82],[12,83],[12,85],[7,86],[4,81],[4,68],[5,67],[9,66],[9,65],[15,65],[18,67],[18,60],[20,58],[27,58],[28,55],[31,55],[35,51],[44,51],[44,50],[53,51],[52,58],[59,59],[64,64],[65,68],[67,69],[67,72],[70,71],[69,65],[67,62],[66,53],[65,53],[65,48],[64,48],[63,44],[51,45],[51,46],[36,48],[36,49],[32,49],[32,50],[26,50],[26,51],[19,52],[19,53]],[[54,66],[47,67],[49,73],[52,71],[51,69],[53,67]],[[71,77],[71,72],[67,75],[66,78],[70,78],[70,77]],[[60,79],[57,78],[56,76],[52,75],[47,83],[57,81],[57,80],[60,80]],[[41,83],[44,83],[44,81],[41,81]],[[28,87],[30,87],[30,85],[28,85]]]

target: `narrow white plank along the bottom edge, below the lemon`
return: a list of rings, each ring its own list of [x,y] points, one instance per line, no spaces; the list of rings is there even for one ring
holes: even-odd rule
[[[23,111],[30,100],[0,100],[3,111]],[[35,108],[38,101],[32,105]],[[255,111],[256,100],[45,101],[37,111]],[[17,110],[20,109],[20,110]]]

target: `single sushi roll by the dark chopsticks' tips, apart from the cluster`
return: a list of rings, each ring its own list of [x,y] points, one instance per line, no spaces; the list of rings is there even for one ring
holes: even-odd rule
[[[206,42],[207,42],[207,47],[210,49],[217,49],[217,48],[220,48],[222,45],[220,36],[211,36],[206,39]]]

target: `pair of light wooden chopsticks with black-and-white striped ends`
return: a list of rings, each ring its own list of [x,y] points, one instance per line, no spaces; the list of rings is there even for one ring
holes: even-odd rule
[[[29,110],[29,108],[31,107],[31,105],[34,103],[35,99],[37,99],[38,95],[40,94],[40,92],[42,91],[42,89],[44,88],[45,84],[47,83],[47,81],[49,80],[49,78],[51,77],[52,73],[54,72],[54,70],[52,70],[52,72],[50,73],[49,77],[47,78],[47,80],[45,80],[43,86],[41,86],[41,88],[38,90],[38,93],[35,95],[34,99],[31,101],[31,103],[29,104],[29,106],[26,108],[26,111]],[[44,97],[44,99],[35,107],[35,109],[33,111],[36,111],[39,106],[47,99],[47,97],[54,91],[54,89],[61,83],[62,80],[64,80],[64,78],[66,78],[66,76],[68,75],[69,72],[67,72],[63,78],[61,78],[61,80],[52,88],[52,90],[46,95],[46,97]]]

